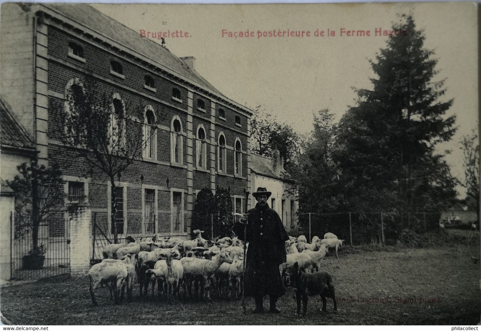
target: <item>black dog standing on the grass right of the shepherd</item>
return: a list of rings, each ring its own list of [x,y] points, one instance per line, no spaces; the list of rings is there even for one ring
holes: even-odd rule
[[[327,271],[317,271],[314,273],[305,273],[299,270],[299,264],[294,263],[294,292],[296,293],[297,315],[301,316],[301,298],[303,301],[303,313],[305,316],[307,310],[307,295],[319,294],[322,298],[322,311],[326,311],[326,297],[332,298],[334,302],[334,312],[337,312],[337,302],[334,293],[334,284],[332,276]]]

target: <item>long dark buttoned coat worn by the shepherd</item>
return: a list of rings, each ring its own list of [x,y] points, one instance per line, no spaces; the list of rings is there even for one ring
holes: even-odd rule
[[[267,204],[247,211],[247,242],[245,292],[247,296],[285,294],[279,264],[286,262],[285,241],[289,240],[278,213]],[[236,223],[234,232],[244,239],[244,224]]]

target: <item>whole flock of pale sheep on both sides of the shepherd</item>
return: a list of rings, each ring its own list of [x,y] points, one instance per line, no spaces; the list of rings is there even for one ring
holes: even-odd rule
[[[146,296],[155,286],[159,296],[165,295],[169,302],[180,296],[183,287],[187,295],[200,298],[236,297],[241,294],[243,277],[244,243],[232,235],[217,241],[206,240],[203,231],[194,230],[193,240],[171,239],[155,234],[152,241],[138,241],[128,236],[125,243],[109,244],[102,250],[104,259],[89,270],[90,295],[97,305],[95,290],[98,286],[109,287],[115,303],[132,299],[135,283],[139,284],[140,296]],[[310,244],[304,235],[286,241],[287,261],[279,266],[280,274],[287,281],[289,272],[297,262],[298,268],[306,272],[318,270],[321,260],[329,248],[337,250],[344,240],[335,234],[326,233],[324,239],[317,236]],[[248,247],[247,243],[247,247]],[[192,294],[194,284],[194,294]]]

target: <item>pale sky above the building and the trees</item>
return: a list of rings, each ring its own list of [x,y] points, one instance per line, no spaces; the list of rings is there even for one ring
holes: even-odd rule
[[[329,108],[338,121],[354,105],[354,88],[372,87],[369,78],[375,75],[368,60],[375,59],[389,38],[376,36],[376,29],[391,30],[397,14],[411,12],[417,27],[424,30],[425,48],[433,49],[438,60],[434,80],[446,79],[441,100],[454,98],[446,116],[456,114],[458,130],[438,151],[452,150],[445,159],[453,175],[463,177],[459,140],[478,130],[473,3],[93,6],[139,31],[139,37],[140,30],[188,32],[190,37],[166,37],[165,46],[179,57],[194,56],[195,70],[228,98],[251,109],[261,105],[300,133],[312,130],[313,113],[321,109]],[[328,37],[328,29],[335,36]],[[370,36],[341,35],[341,29],[370,31]],[[274,30],[276,37],[269,37]],[[286,37],[286,33],[277,37],[279,30],[304,31],[304,37]],[[228,37],[228,32],[247,31],[249,37]],[[316,36],[316,31],[324,31],[324,36]]]

